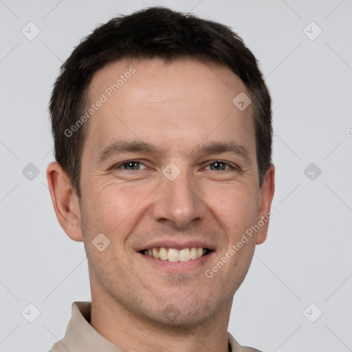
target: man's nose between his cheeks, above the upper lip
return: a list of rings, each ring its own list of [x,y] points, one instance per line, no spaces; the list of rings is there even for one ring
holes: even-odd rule
[[[172,223],[177,228],[186,228],[190,223],[201,221],[206,214],[206,205],[202,201],[197,181],[186,170],[170,181],[162,175],[162,181],[156,188],[152,216],[160,223]]]

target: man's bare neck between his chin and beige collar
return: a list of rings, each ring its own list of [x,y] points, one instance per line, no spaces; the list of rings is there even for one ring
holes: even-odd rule
[[[137,316],[102,290],[91,294],[91,326],[126,351],[228,352],[228,320],[232,302],[197,327],[173,327]]]

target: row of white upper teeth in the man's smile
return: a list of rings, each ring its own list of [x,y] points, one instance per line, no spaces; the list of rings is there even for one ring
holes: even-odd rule
[[[147,256],[153,256],[162,261],[190,261],[190,259],[197,259],[206,253],[206,248],[192,247],[184,248],[183,250],[175,250],[175,248],[151,248],[144,250]]]

